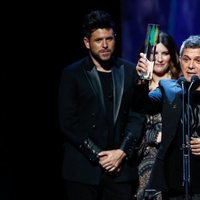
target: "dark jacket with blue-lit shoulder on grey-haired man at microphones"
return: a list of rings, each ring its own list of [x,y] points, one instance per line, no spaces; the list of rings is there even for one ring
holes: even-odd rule
[[[176,80],[161,80],[159,87],[150,93],[148,93],[147,85],[141,85],[139,88],[144,92],[140,97],[143,99],[143,102],[140,101],[140,105],[144,106],[145,112],[162,113],[162,142],[151,172],[148,188],[166,192],[168,190],[166,177],[169,175],[168,169],[166,169],[166,155],[180,124],[182,88]]]

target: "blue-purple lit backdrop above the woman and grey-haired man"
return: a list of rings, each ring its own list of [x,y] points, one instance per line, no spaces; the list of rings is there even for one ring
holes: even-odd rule
[[[157,23],[178,48],[189,35],[200,34],[199,0],[121,0],[122,56],[137,62],[146,26]]]

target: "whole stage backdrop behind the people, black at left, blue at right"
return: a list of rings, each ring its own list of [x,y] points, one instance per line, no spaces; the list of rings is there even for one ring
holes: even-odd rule
[[[141,9],[139,2],[149,7]],[[160,2],[158,7],[155,2]],[[176,9],[181,5],[184,12],[179,16],[182,11]],[[17,42],[9,47],[19,54],[19,64],[13,65],[12,76],[3,74],[2,79],[9,87],[2,92],[9,98],[2,104],[0,199],[60,200],[63,136],[58,125],[58,87],[63,67],[87,53],[81,38],[83,16],[91,9],[110,12],[117,24],[116,54],[136,61],[147,22],[160,23],[180,42],[188,34],[200,33],[196,12],[200,6],[197,0],[84,0],[23,6],[15,9],[16,23],[9,36]],[[8,60],[17,59],[9,55]]]

